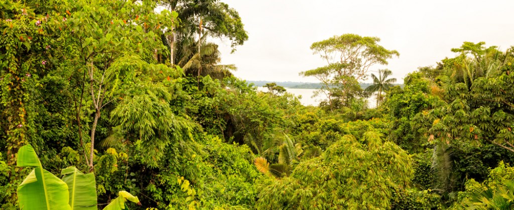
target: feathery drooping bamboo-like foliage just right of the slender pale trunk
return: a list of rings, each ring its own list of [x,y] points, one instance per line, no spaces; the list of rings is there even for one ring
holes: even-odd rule
[[[166,70],[171,72],[166,67],[152,68],[150,65],[149,68],[149,71]],[[166,80],[141,81],[126,87],[123,99],[111,112],[114,125],[120,127],[123,136],[130,135],[130,140],[140,147],[141,152],[148,154],[142,161],[152,167],[159,166],[164,148],[171,141],[191,138],[189,133],[194,127],[190,121],[173,113],[170,106],[173,97],[166,83]]]

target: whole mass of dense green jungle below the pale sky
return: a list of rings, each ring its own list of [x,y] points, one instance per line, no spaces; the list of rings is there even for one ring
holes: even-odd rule
[[[0,208],[514,207],[514,49],[465,42],[400,87],[368,72],[397,51],[335,36],[304,107],[219,64],[209,37],[248,36],[217,0],[7,0],[0,31]]]

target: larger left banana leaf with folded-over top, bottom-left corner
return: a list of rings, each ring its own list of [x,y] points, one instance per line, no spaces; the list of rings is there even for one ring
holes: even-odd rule
[[[21,209],[71,209],[68,205],[68,185],[41,167],[32,146],[25,145],[20,148],[17,166],[35,167],[18,186],[18,202]]]

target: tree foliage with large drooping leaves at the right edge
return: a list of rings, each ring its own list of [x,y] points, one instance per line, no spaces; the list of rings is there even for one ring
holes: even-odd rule
[[[476,78],[470,89],[465,83],[446,86],[448,103],[424,113],[419,127],[428,127],[431,138],[448,143],[455,139],[475,145],[493,143],[513,152],[514,95],[505,91],[514,88],[511,69],[504,68],[499,76]]]

